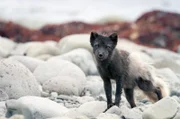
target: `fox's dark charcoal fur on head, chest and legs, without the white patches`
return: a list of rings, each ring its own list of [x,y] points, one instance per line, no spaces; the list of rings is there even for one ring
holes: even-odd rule
[[[113,105],[119,106],[121,100],[122,88],[131,107],[135,107],[134,87],[137,85],[146,93],[157,94],[158,99],[162,98],[159,89],[152,85],[152,82],[143,80],[141,77],[131,80],[128,75],[129,70],[129,53],[120,52],[115,48],[117,44],[117,34],[102,36],[92,32],[90,43],[93,47],[93,53],[97,61],[97,68],[104,82],[104,90],[107,98],[107,109]],[[116,81],[115,103],[112,102],[111,80]]]

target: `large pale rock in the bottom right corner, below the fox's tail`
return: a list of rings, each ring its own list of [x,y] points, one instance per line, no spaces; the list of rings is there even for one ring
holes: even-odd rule
[[[143,112],[143,119],[171,119],[177,113],[179,105],[171,97],[163,98]]]

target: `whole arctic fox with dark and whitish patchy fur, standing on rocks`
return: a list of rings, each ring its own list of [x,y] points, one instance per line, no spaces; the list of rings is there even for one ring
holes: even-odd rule
[[[153,67],[133,53],[118,51],[115,48],[117,42],[116,33],[103,36],[91,32],[90,35],[97,68],[104,82],[107,109],[113,105],[119,106],[122,88],[132,108],[136,106],[133,94],[136,86],[155,102],[168,96],[166,83],[155,75]],[[115,103],[112,102],[111,79],[116,81]]]

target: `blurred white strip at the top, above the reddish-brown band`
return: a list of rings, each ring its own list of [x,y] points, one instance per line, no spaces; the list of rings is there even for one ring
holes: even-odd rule
[[[135,21],[159,9],[180,12],[179,0],[1,0],[1,20],[28,28],[68,21],[94,23],[105,17]]]

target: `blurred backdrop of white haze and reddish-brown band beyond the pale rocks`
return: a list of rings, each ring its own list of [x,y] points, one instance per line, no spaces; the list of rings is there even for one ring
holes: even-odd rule
[[[149,47],[178,52],[179,0],[1,0],[0,36],[59,41],[77,33],[117,32]]]

